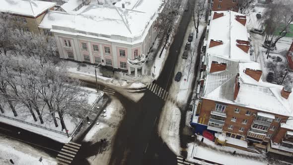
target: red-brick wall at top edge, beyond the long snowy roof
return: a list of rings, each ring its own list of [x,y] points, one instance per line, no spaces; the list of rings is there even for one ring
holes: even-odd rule
[[[213,2],[213,11],[222,11],[222,10],[232,10],[238,12],[239,8],[237,7],[238,0],[233,3],[233,0],[214,0]],[[220,4],[220,8],[218,8]],[[233,9],[232,9],[233,7]]]

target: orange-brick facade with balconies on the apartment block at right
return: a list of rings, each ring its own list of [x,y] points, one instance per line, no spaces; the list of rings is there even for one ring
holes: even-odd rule
[[[226,105],[227,107],[225,108],[225,113],[226,113],[226,119],[224,126],[222,127],[223,132],[230,132],[230,133],[235,133],[237,135],[247,135],[247,131],[251,128],[251,125],[253,123],[253,120],[255,119],[257,112],[261,112],[259,110],[251,109],[251,108],[246,108],[246,107],[241,107],[241,106],[236,106],[236,105],[231,105],[231,104],[226,104],[226,103],[221,103],[221,102],[216,102],[214,100],[209,100],[209,99],[202,99],[202,107],[200,111],[200,117],[199,121],[202,121],[202,124],[208,125],[209,118],[211,116],[211,111],[215,109],[216,103]],[[240,111],[239,113],[235,113],[234,110],[235,108],[239,108]],[[251,111],[251,115],[246,115],[246,111]],[[268,112],[264,112],[268,113]],[[271,113],[268,113],[271,114]],[[277,115],[273,114],[275,117],[281,117],[281,120],[286,120],[288,119],[287,116],[282,116],[282,115]],[[204,117],[205,116],[205,117]],[[233,122],[231,121],[232,117],[236,117],[236,121]],[[205,120],[204,120],[205,118]],[[247,119],[247,123],[243,124],[242,121]],[[229,129],[229,125],[233,125],[233,129]],[[271,123],[271,126],[275,126],[278,128],[279,122],[276,122],[275,120]],[[239,128],[243,127],[244,131],[241,132],[239,131]],[[280,128],[279,128],[280,129]],[[269,134],[274,134],[274,130],[268,130]],[[281,133],[280,136],[284,137],[285,134]],[[243,139],[243,138],[241,138]],[[270,138],[266,138],[265,141],[269,141]]]

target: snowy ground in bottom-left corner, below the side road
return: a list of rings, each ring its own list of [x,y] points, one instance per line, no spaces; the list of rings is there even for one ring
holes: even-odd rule
[[[10,159],[15,165],[42,165],[40,157],[44,165],[57,165],[55,159],[45,152],[0,135],[0,165],[11,165]]]

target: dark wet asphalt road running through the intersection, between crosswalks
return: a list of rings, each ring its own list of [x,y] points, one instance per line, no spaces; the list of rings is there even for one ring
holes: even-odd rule
[[[156,84],[165,90],[168,90],[173,82],[175,65],[178,57],[180,57],[180,48],[185,44],[182,41],[191,20],[191,11],[195,1],[189,0],[188,3],[189,10],[183,13],[178,31],[174,36],[174,42],[170,46],[169,55],[156,81]],[[101,87],[103,88],[103,86]],[[110,165],[177,165],[176,156],[157,134],[158,120],[165,102],[151,91],[145,91],[145,95],[139,102],[133,102],[119,92],[115,93],[115,96],[126,109],[126,114],[115,136]],[[12,130],[12,132],[0,130],[0,133],[56,151],[60,151],[63,146],[63,144],[49,138],[13,126],[0,123],[0,127]],[[19,130],[21,130],[20,136],[16,134]],[[82,146],[72,165],[88,165],[86,158],[95,155],[100,146],[98,143],[91,144],[81,141],[79,143]],[[51,154],[52,157],[57,155],[55,151],[41,149]]]

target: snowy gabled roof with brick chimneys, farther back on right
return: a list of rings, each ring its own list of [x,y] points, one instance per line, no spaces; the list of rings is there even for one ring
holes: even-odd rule
[[[223,13],[223,16],[213,19],[215,12]],[[235,19],[236,15],[244,16],[234,11],[212,11],[207,53],[234,60],[250,61],[249,52],[246,53],[236,46],[236,40],[248,41],[249,36],[246,24],[238,22]],[[211,40],[222,41],[222,44],[209,48]]]

